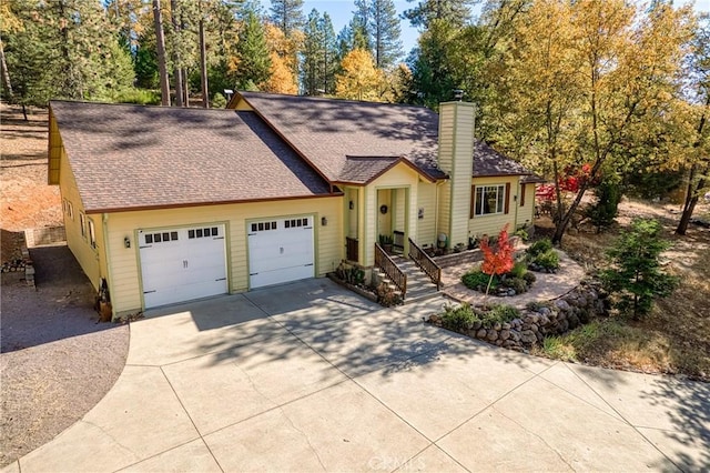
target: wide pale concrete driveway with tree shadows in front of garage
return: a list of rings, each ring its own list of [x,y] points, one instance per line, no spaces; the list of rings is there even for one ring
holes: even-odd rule
[[[518,354],[315,280],[152,311],[84,419],[3,471],[700,471],[710,386]]]

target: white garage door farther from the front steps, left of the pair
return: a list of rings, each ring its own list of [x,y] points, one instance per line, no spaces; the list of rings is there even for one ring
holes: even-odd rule
[[[227,292],[224,225],[139,231],[146,308]]]

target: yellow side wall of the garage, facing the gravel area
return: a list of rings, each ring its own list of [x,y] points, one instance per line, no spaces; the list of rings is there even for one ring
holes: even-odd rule
[[[84,207],[77,189],[77,181],[74,174],[69,165],[69,160],[64,150],[60,150],[60,172],[59,172],[59,188],[62,194],[62,199],[71,202],[73,207],[73,219],[64,213],[64,229],[67,230],[67,245],[79,261],[81,269],[84,271],[89,281],[95,289],[99,288],[99,281],[101,279],[100,258],[104,259],[100,253],[103,252],[102,240],[97,238],[97,248],[91,248],[89,244],[89,232],[87,229],[87,236],[81,234],[81,218],[80,214],[84,213]],[[97,231],[101,225],[101,221],[94,221],[94,228]]]

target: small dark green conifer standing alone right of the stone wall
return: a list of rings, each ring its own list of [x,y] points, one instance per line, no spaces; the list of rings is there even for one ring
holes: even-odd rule
[[[655,298],[669,295],[678,285],[678,278],[660,269],[659,256],[670,246],[661,230],[656,220],[635,219],[607,253],[611,268],[600,274],[605,289],[619,295],[618,309],[635,319],[648,314]]]

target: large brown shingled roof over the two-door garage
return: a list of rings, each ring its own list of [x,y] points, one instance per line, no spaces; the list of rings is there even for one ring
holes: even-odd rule
[[[332,195],[256,113],[50,102],[88,213]]]

